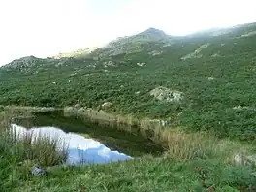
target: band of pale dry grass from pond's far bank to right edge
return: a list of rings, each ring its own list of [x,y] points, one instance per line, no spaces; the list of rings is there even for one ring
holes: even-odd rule
[[[190,160],[197,157],[216,157],[231,162],[234,155],[241,150],[249,153],[249,150],[253,148],[249,144],[235,143],[227,139],[219,140],[214,135],[207,133],[185,133],[180,129],[163,127],[157,119],[138,119],[132,115],[121,116],[93,110],[78,112],[75,108],[70,108],[69,111],[64,110],[64,114],[77,115],[85,120],[89,119],[92,122],[124,131],[139,130],[144,137],[165,147],[167,149],[166,157],[172,159]]]

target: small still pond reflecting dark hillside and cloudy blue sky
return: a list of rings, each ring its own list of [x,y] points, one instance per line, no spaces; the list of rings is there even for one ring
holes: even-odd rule
[[[33,117],[15,118],[12,123],[15,124],[16,129],[27,128],[26,131],[32,129],[33,132],[60,135],[65,138],[70,144],[69,152],[75,159],[71,161],[75,162],[81,154],[86,156],[86,161],[107,163],[146,154],[158,156],[164,150],[160,145],[145,138],[139,131],[129,133],[59,113],[38,112],[34,113]]]

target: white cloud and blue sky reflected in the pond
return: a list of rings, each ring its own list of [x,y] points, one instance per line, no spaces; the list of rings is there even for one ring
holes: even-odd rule
[[[25,127],[12,124],[12,131],[20,138],[26,134],[32,135],[32,142],[37,137],[48,137],[57,140],[58,148],[63,146],[68,149],[66,164],[105,164],[116,161],[132,159],[132,157],[113,151],[104,144],[93,139],[86,139],[75,133],[65,133],[55,127],[37,127],[26,129]]]

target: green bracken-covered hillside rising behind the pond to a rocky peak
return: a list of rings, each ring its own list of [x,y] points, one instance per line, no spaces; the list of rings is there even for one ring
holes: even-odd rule
[[[20,58],[0,69],[0,104],[80,106],[256,138],[256,23],[172,37],[150,28],[103,48]],[[66,57],[67,56],[67,57]]]

